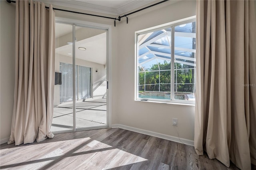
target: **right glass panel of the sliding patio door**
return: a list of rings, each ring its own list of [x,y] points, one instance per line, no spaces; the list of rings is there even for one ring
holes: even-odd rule
[[[76,26],[76,129],[106,127],[106,31]]]

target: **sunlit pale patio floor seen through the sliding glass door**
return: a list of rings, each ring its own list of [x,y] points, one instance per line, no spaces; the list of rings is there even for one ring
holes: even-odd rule
[[[73,103],[65,102],[54,107],[51,131],[73,129]],[[76,101],[76,128],[106,125],[106,99]]]

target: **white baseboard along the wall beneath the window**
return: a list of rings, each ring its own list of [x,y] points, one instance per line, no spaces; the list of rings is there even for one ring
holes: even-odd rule
[[[134,128],[134,127],[129,127],[129,126],[120,125],[120,124],[113,124],[112,128],[122,128],[122,129],[125,129],[125,130],[130,130],[130,131],[133,131],[133,132],[142,133],[142,134],[154,136],[154,137],[157,137],[157,138],[170,140],[170,141],[173,141],[173,142],[178,142],[178,143],[186,144],[186,145],[189,145],[189,146],[194,146],[194,141],[193,140],[178,138],[176,136],[170,136],[170,135],[167,135],[167,134],[152,132],[152,131],[144,130],[144,129],[140,129],[140,128]]]

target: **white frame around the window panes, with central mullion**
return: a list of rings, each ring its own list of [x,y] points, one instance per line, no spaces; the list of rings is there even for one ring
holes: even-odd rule
[[[171,71],[171,99],[170,100],[165,100],[165,99],[149,99],[149,98],[139,98],[138,97],[138,51],[139,51],[139,45],[138,45],[138,35],[141,34],[146,34],[150,32],[154,32],[157,30],[162,30],[166,28],[175,28],[175,26],[179,26],[182,24],[186,24],[189,22],[195,22],[196,21],[196,16],[184,18],[181,20],[176,20],[173,22],[169,22],[166,24],[162,24],[159,26],[154,26],[151,28],[147,28],[144,30],[136,31],[135,32],[135,101],[147,101],[147,102],[156,102],[156,103],[174,103],[174,104],[182,104],[182,105],[194,105],[195,101],[187,101],[187,100],[177,100],[174,99],[174,71]],[[174,31],[172,31],[172,43],[174,43]],[[174,45],[171,46],[171,56],[174,56]],[[171,57],[171,70],[174,70],[174,57]],[[196,69],[195,69],[195,74],[196,76]]]

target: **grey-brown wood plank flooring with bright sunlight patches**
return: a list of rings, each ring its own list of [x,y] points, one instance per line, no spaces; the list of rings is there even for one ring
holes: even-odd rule
[[[0,169],[238,170],[192,146],[120,128],[56,134],[40,143],[2,144]]]

